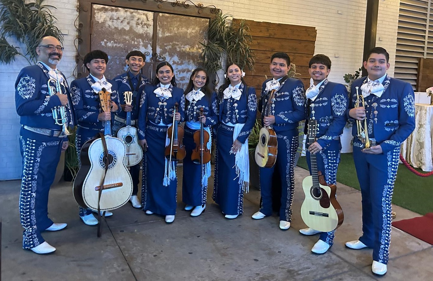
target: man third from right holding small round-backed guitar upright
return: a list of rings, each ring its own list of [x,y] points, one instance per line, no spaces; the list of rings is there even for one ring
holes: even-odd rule
[[[294,158],[299,146],[298,123],[305,119],[305,91],[301,80],[288,78],[290,58],[286,53],[275,53],[269,65],[272,79],[263,82],[259,100],[262,112],[262,125],[273,126],[277,134],[277,160],[271,168],[260,168],[260,210],[252,215],[255,220],[272,215],[272,176],[277,169],[281,177],[281,207],[279,210],[282,230],[290,227],[294,194]],[[271,90],[275,90],[275,100],[269,100]],[[271,114],[265,116],[263,110],[273,102]]]

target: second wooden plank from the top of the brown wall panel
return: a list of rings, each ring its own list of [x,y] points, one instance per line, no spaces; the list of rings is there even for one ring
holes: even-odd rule
[[[314,54],[313,41],[264,38],[257,36],[252,36],[252,39],[253,41],[250,47],[253,50],[266,50],[274,52],[287,52],[290,50],[291,52],[299,54]]]

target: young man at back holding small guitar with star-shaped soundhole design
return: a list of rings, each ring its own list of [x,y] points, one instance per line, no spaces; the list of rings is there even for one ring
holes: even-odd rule
[[[126,65],[128,65],[128,71],[114,78],[116,81],[119,97],[120,97],[120,107],[121,111],[114,115],[113,120],[113,134],[117,135],[117,131],[126,125],[126,113],[131,113],[131,126],[138,128],[138,113],[140,109],[140,100],[142,94],[144,94],[144,85],[150,84],[149,79],[142,75],[141,69],[145,65],[145,55],[134,50],[126,55],[125,59]],[[132,92],[132,104],[126,104],[123,99],[124,92]],[[140,208],[141,203],[138,200],[138,184],[140,176],[140,164],[133,165],[129,167],[129,172],[132,178],[132,195],[129,198],[132,207]]]

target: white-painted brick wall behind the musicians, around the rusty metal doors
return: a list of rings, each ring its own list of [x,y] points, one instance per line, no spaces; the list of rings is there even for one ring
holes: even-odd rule
[[[330,80],[344,83],[345,73],[354,73],[362,65],[366,1],[359,0],[207,0],[194,1],[204,6],[215,5],[235,18],[256,21],[314,26],[317,29],[316,54],[325,54],[333,63]],[[75,68],[74,39],[77,17],[73,0],[45,0],[58,18],[58,27],[65,33],[65,52],[58,68],[71,82]],[[379,0],[377,44],[390,53],[394,74],[398,0]],[[275,14],[278,11],[278,14]],[[379,38],[381,41],[379,41]],[[15,112],[14,83],[19,70],[26,66],[19,58],[12,65],[0,64],[0,180],[16,179],[21,174],[19,154],[19,117]]]

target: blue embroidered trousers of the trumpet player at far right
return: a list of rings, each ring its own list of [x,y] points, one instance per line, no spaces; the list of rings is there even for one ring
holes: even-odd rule
[[[357,143],[353,159],[362,195],[362,236],[359,241],[373,249],[373,260],[388,263],[391,240],[391,199],[400,148],[386,154],[366,154]]]

